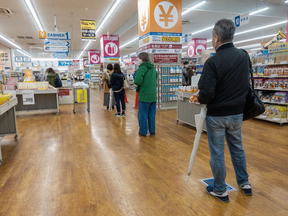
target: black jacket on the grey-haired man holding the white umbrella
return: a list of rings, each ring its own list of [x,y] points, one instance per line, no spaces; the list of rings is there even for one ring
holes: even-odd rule
[[[198,82],[199,102],[207,104],[207,115],[228,116],[243,113],[249,90],[249,55],[221,45],[204,64]]]

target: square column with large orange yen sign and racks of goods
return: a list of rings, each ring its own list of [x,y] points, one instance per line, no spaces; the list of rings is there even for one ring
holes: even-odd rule
[[[182,85],[182,1],[138,0],[139,51],[148,52],[158,72],[157,109],[177,107]]]

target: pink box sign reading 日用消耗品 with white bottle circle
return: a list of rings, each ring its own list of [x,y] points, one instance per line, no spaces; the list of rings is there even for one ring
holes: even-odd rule
[[[118,35],[102,35],[100,44],[102,57],[119,58],[120,50]]]

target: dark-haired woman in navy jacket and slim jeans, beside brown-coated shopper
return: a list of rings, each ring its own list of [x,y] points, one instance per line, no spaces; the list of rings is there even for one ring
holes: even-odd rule
[[[107,86],[109,88],[112,88],[113,95],[115,97],[116,109],[117,109],[117,113],[115,114],[115,116],[122,117],[126,116],[125,90],[123,88],[123,82],[125,80],[125,76],[122,73],[120,65],[118,63],[114,64],[113,71],[114,72],[111,75],[110,82],[107,80],[108,81]],[[122,113],[121,113],[120,101],[122,105]]]

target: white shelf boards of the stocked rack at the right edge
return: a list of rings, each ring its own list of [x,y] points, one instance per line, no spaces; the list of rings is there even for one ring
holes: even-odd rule
[[[255,72],[257,72],[257,74],[253,74],[254,77],[254,82],[255,79],[257,78],[265,78],[265,79],[277,79],[277,78],[287,78],[288,79],[288,75],[258,75],[258,67],[288,67],[288,64],[256,64],[253,65],[253,67],[255,68]],[[280,87],[275,87],[275,88],[264,88],[263,86],[257,86],[254,87],[255,90],[263,90],[263,91],[271,91],[271,92],[288,92],[287,88],[280,88]],[[275,101],[268,101],[268,100],[262,100],[263,103],[268,103],[268,104],[277,104],[277,105],[286,105],[287,106],[287,110],[288,110],[288,103],[284,103],[284,102],[275,102]],[[267,115],[259,115],[256,117],[257,119],[262,119],[262,120],[266,120],[269,122],[276,122],[276,123],[280,123],[280,126],[283,126],[284,123],[288,123],[288,116],[287,118],[274,118],[274,117],[270,117]]]

